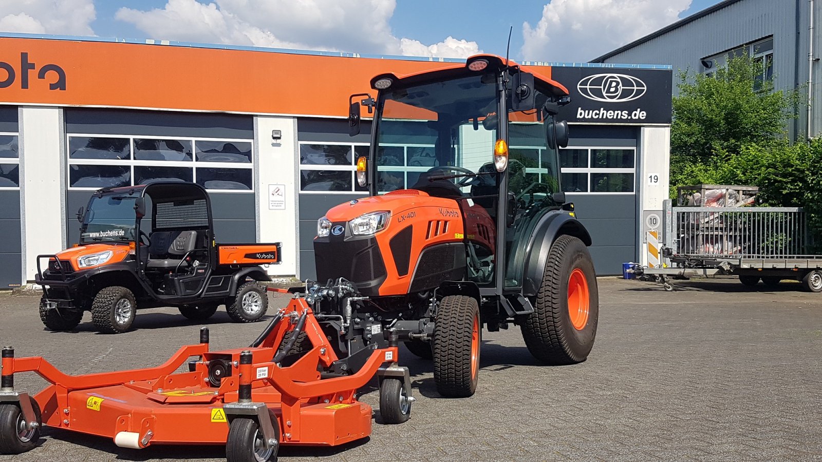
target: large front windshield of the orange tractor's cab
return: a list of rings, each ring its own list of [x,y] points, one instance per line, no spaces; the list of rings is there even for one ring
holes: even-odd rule
[[[384,91],[379,104],[376,192],[496,193],[494,74]]]

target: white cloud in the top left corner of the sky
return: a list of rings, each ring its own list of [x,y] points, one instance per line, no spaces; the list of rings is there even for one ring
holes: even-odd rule
[[[92,0],[0,0],[0,12],[3,32],[95,35]]]

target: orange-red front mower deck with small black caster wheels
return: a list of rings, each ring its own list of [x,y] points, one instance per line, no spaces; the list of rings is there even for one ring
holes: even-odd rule
[[[383,423],[408,420],[409,372],[397,366],[396,335],[386,332],[344,373],[326,323],[295,296],[245,349],[184,346],[158,367],[67,376],[44,358],[14,358],[2,349],[0,454],[38,444],[42,426],[111,438],[117,446],[225,445],[229,462],[276,460],[280,445],[337,446],[371,434],[372,408],[355,393],[380,382]],[[294,350],[304,339],[302,352]],[[176,372],[189,358],[189,372]],[[14,376],[36,372],[50,385],[34,396]]]

